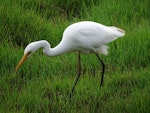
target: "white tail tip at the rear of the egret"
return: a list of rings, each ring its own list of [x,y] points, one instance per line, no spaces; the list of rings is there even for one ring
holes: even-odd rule
[[[123,37],[125,35],[125,31],[118,27],[112,26],[110,27],[113,30],[113,33],[116,37]]]

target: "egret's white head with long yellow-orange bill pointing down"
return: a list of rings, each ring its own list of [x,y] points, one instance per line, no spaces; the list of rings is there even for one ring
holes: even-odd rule
[[[19,61],[18,65],[16,66],[15,70],[17,71],[21,64],[29,57],[32,53],[34,53],[38,49],[38,44],[36,42],[32,42],[27,45],[24,50],[24,55],[22,56],[21,60]]]

